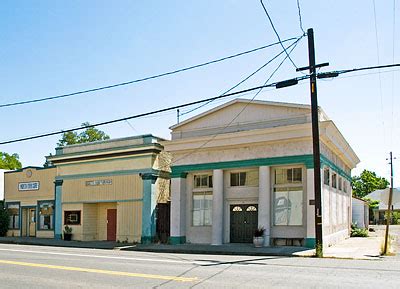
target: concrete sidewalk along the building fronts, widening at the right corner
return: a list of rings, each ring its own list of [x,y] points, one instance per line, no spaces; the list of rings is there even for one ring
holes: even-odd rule
[[[341,243],[324,248],[324,257],[379,260],[383,237],[372,233],[368,238],[348,238]],[[156,252],[156,253],[180,253],[180,254],[210,254],[210,255],[247,255],[247,256],[286,256],[286,257],[313,257],[314,249],[294,246],[277,246],[255,248],[253,244],[122,244],[108,241],[64,241],[41,238],[0,237],[0,243],[76,247],[108,250]]]

